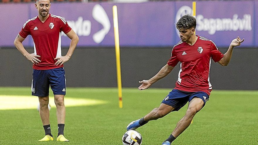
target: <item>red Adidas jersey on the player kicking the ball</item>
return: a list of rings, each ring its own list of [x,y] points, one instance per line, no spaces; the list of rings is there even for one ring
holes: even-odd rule
[[[203,91],[210,95],[211,59],[218,62],[223,56],[215,43],[205,37],[198,36],[193,46],[179,41],[174,45],[171,58],[167,62],[173,67],[180,62],[181,69],[175,89],[187,92]]]

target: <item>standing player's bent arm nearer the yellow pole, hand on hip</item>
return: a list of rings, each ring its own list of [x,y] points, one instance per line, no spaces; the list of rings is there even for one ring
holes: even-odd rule
[[[79,42],[79,37],[74,32],[74,30],[71,30],[66,35],[71,39],[70,48],[69,48],[67,54],[64,57],[56,57],[55,58],[55,60],[57,60],[57,62],[55,62],[55,65],[60,65],[61,66],[62,64],[67,62],[71,58],[71,56],[74,53],[74,50],[77,46],[77,43]]]

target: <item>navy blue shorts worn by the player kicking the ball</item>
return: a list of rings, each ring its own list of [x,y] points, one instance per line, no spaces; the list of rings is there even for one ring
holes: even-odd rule
[[[185,92],[173,89],[169,94],[164,98],[162,103],[167,104],[175,108],[173,111],[178,111],[187,102],[190,102],[194,97],[201,98],[204,102],[203,106],[209,100],[209,95],[205,92]]]

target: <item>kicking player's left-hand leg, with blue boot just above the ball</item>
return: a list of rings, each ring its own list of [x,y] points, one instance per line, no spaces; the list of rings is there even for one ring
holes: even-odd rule
[[[135,120],[128,124],[126,127],[127,130],[135,130],[138,127],[146,124],[150,120],[157,120],[159,118],[162,118],[169,114],[171,111],[173,111],[175,108],[172,106],[169,106],[167,104],[161,103],[159,108],[154,108],[149,114],[145,115],[145,117]]]

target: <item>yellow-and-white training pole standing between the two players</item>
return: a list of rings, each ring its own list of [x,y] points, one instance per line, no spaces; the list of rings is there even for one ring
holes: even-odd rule
[[[117,73],[119,108],[123,108],[120,48],[119,48],[119,34],[118,34],[118,18],[117,18],[117,7],[116,6],[113,6],[113,21],[114,21],[114,34],[115,34],[115,47],[116,47],[116,73]]]

